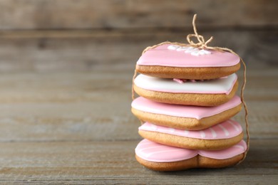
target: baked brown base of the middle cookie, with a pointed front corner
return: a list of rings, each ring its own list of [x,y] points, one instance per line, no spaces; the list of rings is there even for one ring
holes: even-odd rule
[[[213,125],[224,122],[225,120],[229,120],[230,117],[236,115],[241,109],[242,106],[240,104],[230,110],[225,110],[224,112],[220,112],[219,114],[212,115],[210,117],[203,117],[200,120],[190,117],[175,117],[170,115],[159,115],[150,112],[143,112],[136,110],[133,107],[131,108],[131,112],[133,112],[133,115],[138,117],[139,120],[151,122],[155,125],[172,127],[175,129],[200,130],[212,127]]]

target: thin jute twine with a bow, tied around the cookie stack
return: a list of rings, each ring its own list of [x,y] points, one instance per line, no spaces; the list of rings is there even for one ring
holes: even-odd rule
[[[242,65],[244,67],[243,68],[243,70],[244,70],[244,72],[243,72],[244,81],[242,83],[242,89],[240,90],[240,99],[242,100],[242,105],[244,107],[244,112],[245,112],[244,120],[245,120],[246,134],[247,134],[247,139],[246,139],[247,140],[247,149],[246,149],[246,152],[244,152],[244,157],[242,158],[242,160],[240,160],[240,162],[237,163],[237,164],[240,164],[242,161],[244,161],[245,157],[247,156],[247,152],[249,151],[248,110],[247,110],[247,105],[246,105],[246,103],[244,101],[244,89],[245,89],[245,85],[246,85],[246,82],[247,82],[247,80],[246,80],[246,65],[245,65],[244,61],[242,60],[242,58],[239,55],[237,55],[237,53],[235,53],[235,51],[232,51],[229,48],[207,46],[207,44],[212,41],[213,37],[211,36],[210,39],[205,41],[205,38],[197,33],[197,28],[196,28],[196,24],[195,24],[196,17],[197,17],[197,14],[195,14],[193,16],[193,20],[192,20],[194,34],[188,34],[187,37],[186,37],[187,38],[187,42],[189,44],[186,44],[186,43],[173,43],[173,42],[166,41],[166,42],[158,43],[158,44],[156,44],[154,46],[149,46],[149,47],[145,48],[143,53],[145,53],[146,51],[148,51],[150,49],[156,48],[156,47],[164,45],[164,44],[173,44],[173,45],[178,45],[178,46],[191,46],[191,47],[195,47],[195,48],[209,49],[209,50],[220,51],[220,52],[227,51],[227,52],[235,54],[236,56],[238,56],[240,58],[240,62],[242,63]],[[199,42],[195,43],[194,41],[192,41],[192,39],[191,39],[192,37],[197,38],[197,41],[199,41]],[[132,86],[132,98],[133,98],[133,100],[134,100],[134,96],[135,96],[135,93],[134,93],[134,79],[135,79],[136,75],[137,75],[137,71],[135,70],[134,71],[134,75],[133,75],[133,86]],[[142,123],[143,122],[141,121],[141,124]]]

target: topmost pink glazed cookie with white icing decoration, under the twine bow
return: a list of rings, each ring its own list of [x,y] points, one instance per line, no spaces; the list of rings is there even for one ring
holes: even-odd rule
[[[150,48],[139,58],[136,71],[158,78],[215,79],[240,69],[235,54],[169,43]]]

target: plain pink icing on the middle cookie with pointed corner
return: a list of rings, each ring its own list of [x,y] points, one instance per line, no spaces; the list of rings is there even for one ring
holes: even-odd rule
[[[162,102],[154,102],[146,99],[145,97],[138,97],[133,100],[131,106],[143,112],[150,112],[159,115],[170,115],[175,117],[192,117],[197,120],[202,117],[210,117],[217,115],[225,110],[230,110],[233,107],[241,104],[240,97],[234,96],[232,100],[225,102],[222,105],[215,107],[199,107],[190,105],[171,105]]]

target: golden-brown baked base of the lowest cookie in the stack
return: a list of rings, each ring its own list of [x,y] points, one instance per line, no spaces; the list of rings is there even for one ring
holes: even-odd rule
[[[177,171],[192,168],[222,168],[237,164],[243,159],[243,157],[244,154],[239,154],[229,159],[211,159],[197,155],[191,159],[182,160],[180,162],[150,162],[135,154],[135,158],[140,164],[155,171]]]

